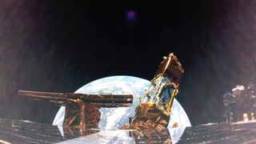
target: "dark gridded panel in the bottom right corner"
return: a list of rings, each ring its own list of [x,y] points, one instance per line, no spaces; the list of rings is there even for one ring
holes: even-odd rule
[[[256,122],[187,127],[178,143],[256,143]]]

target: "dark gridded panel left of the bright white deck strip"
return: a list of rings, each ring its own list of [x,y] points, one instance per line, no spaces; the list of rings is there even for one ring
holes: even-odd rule
[[[81,134],[75,129],[64,130],[63,137],[58,126],[0,118],[0,140],[10,143],[56,143],[95,132],[88,130]]]

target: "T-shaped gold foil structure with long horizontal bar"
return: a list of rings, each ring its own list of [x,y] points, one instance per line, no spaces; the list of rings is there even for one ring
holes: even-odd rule
[[[18,94],[66,106],[64,128],[78,128],[81,133],[86,129],[98,129],[101,107],[127,107],[133,102],[131,94],[72,94],[26,90],[19,90]]]

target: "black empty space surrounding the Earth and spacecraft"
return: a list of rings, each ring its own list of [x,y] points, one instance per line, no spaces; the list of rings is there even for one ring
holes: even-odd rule
[[[138,17],[128,21],[127,10]],[[256,6],[245,0],[2,0],[0,117],[51,123],[58,106],[18,90],[74,92],[98,78],[150,80],[171,52],[192,125],[222,122],[222,94],[255,80]]]

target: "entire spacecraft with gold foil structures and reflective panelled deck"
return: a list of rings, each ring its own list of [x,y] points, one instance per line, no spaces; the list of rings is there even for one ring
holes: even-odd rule
[[[174,54],[164,57],[145,94],[139,98],[134,117],[122,130],[100,130],[99,108],[130,107],[132,94],[73,94],[19,90],[26,97],[66,106],[62,126],[0,118],[0,143],[254,143],[256,122],[209,123],[182,129],[168,126],[174,96],[183,73]],[[248,89],[248,90],[247,90]],[[246,88],[245,96],[255,100],[255,86]],[[239,92],[239,91],[238,91]],[[137,98],[137,97],[136,97]],[[136,99],[137,101],[137,99]],[[227,114],[238,99],[225,94]],[[248,102],[247,102],[248,103]],[[253,102],[251,107],[255,107]],[[232,115],[230,115],[231,117]]]

